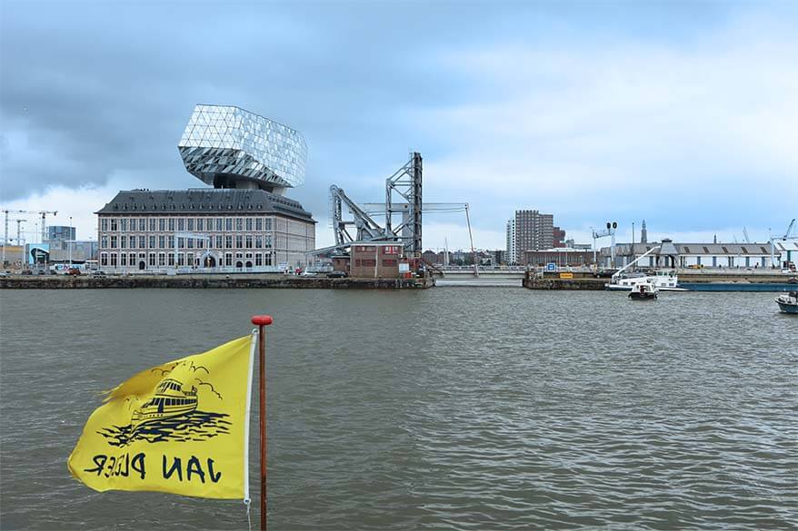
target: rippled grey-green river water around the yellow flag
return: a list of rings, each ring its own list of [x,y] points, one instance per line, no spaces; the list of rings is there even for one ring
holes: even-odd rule
[[[245,529],[240,502],[96,493],[66,457],[98,391],[271,313],[270,529],[794,529],[798,318],[773,297],[4,290],[0,528]]]

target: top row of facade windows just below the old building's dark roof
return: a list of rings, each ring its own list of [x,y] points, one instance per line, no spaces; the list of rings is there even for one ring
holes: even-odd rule
[[[100,218],[100,231],[271,231],[272,218]]]

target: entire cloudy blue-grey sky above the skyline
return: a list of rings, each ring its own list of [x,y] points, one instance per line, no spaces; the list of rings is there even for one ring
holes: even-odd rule
[[[329,185],[377,202],[411,151],[424,199],[469,202],[481,248],[522,208],[577,241],[608,220],[628,241],[643,219],[650,239],[763,241],[798,216],[793,2],[0,9],[0,203],[71,215],[79,238],[119,190],[203,185],[176,148],[195,103],[304,133],[289,195],[319,245]],[[425,218],[425,246],[444,239],[467,244],[462,214]]]

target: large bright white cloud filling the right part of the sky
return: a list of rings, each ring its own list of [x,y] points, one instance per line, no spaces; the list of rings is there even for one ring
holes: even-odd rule
[[[798,196],[798,39],[742,28],[681,46],[444,55],[444,68],[494,90],[414,115],[452,146],[426,163],[426,189],[480,194],[475,211],[501,203],[507,218],[550,211],[555,224],[657,211],[674,231],[707,231],[741,209],[761,228],[793,217],[783,211]]]

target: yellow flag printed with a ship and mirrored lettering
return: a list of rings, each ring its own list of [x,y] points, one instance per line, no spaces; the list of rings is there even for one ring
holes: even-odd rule
[[[101,492],[248,499],[254,338],[146,369],[111,390],[69,471]]]

